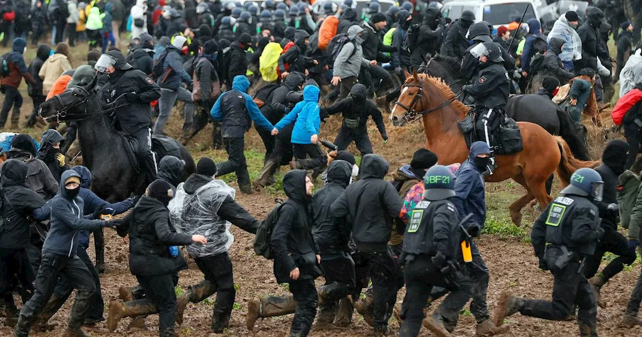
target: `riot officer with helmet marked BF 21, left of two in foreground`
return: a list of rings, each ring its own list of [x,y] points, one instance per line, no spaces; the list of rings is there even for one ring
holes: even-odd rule
[[[426,327],[438,336],[451,336],[445,325],[456,322],[460,310],[471,298],[471,282],[458,271],[458,251],[463,231],[455,198],[455,177],[446,166],[433,166],[424,176],[426,191],[408,220],[403,253],[406,297],[401,309],[403,323],[399,336],[417,336],[424,320],[423,308],[433,286],[451,293],[446,305],[426,318]],[[471,224],[469,232],[478,234],[479,225]]]

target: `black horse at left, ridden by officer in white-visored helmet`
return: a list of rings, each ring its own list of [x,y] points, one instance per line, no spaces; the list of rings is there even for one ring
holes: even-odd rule
[[[112,126],[110,112],[101,110],[94,87],[96,80],[76,86],[40,105],[40,116],[46,120],[77,121],[78,140],[83,164],[93,175],[92,190],[108,202],[124,200],[130,194],[145,191],[144,173],[137,172],[128,156],[126,139]],[[177,142],[180,158],[185,160],[185,178],[194,173],[194,159]],[[160,160],[160,158],[157,158]]]

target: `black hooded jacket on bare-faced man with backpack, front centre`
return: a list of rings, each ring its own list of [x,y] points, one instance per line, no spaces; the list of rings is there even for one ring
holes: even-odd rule
[[[306,194],[306,171],[294,169],[283,177],[288,196],[279,210],[279,220],[272,232],[274,276],[277,282],[291,282],[290,272],[299,268],[299,279],[316,279],[319,248],[312,237],[314,224],[310,210],[312,197]]]

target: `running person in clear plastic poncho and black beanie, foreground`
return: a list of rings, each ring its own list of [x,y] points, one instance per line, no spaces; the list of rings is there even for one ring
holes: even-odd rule
[[[179,321],[187,302],[199,303],[216,293],[211,329],[214,333],[223,333],[229,325],[236,297],[232,261],[227,253],[234,241],[230,224],[256,234],[259,220],[235,202],[234,189],[223,180],[214,180],[214,175],[216,164],[212,159],[198,160],[196,173],[178,186],[175,198],[169,203],[169,213],[173,225],[181,232],[202,232],[207,238],[205,245],[187,246],[205,280],[187,288],[178,298]]]

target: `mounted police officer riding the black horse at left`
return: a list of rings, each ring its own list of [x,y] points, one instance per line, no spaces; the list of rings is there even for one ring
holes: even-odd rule
[[[156,179],[156,160],[152,153],[152,110],[150,102],[160,98],[160,88],[143,71],[125,62],[117,50],[103,54],[94,65],[97,71],[107,74],[108,82],[98,91],[103,110],[119,107],[116,127],[138,141],[135,149],[141,162],[146,181]]]

